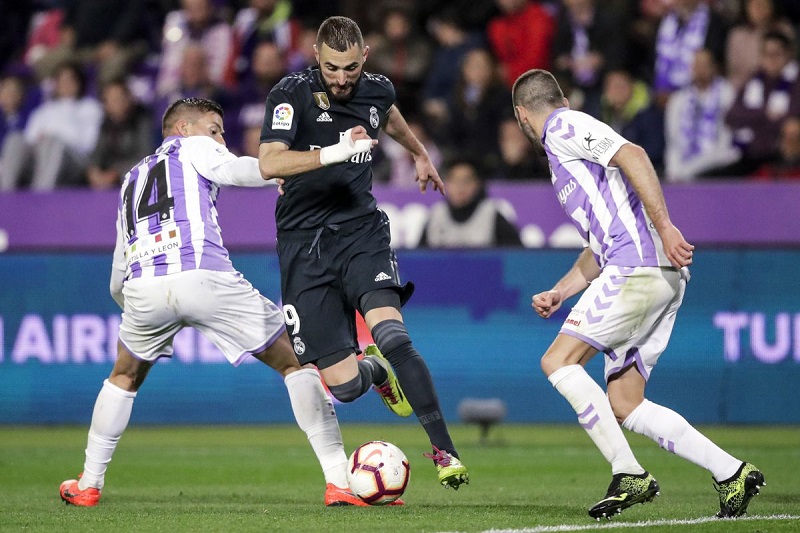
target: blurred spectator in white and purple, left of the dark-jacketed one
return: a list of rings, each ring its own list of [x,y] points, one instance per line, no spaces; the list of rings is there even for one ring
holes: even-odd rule
[[[741,156],[725,124],[736,91],[720,76],[714,54],[700,50],[692,83],[670,97],[666,111],[666,178],[690,181]]]

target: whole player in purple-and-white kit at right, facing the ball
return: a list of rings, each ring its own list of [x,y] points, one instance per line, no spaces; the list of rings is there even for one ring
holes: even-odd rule
[[[694,250],[670,221],[649,157],[608,125],[570,110],[547,71],[520,76],[513,102],[520,128],[547,154],[556,195],[585,242],[572,269],[534,295],[532,307],[548,318],[583,291],[541,364],[611,464],[606,496],[589,515],[611,518],[659,492],[619,424],[709,470],[719,492],[718,517],[744,514],[764,484],[762,473],[644,397],[672,332]],[[583,368],[598,352],[605,355],[607,395]]]

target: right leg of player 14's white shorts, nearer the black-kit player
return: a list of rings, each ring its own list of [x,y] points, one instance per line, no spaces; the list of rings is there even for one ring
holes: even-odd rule
[[[176,292],[183,320],[233,365],[272,346],[285,330],[283,312],[239,272],[193,271]]]

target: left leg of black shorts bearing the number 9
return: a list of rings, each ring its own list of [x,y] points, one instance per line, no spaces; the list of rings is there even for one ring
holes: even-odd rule
[[[319,253],[308,253],[310,245],[278,239],[286,331],[301,364],[345,357],[358,348],[355,310],[340,283],[336,239],[325,235],[318,243]]]

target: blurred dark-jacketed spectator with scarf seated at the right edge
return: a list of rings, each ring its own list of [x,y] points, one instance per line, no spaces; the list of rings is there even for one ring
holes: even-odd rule
[[[798,64],[793,41],[768,32],[761,44],[760,68],[739,90],[726,123],[742,148],[738,163],[714,171],[714,176],[746,176],[778,157],[781,124],[798,116]],[[794,95],[794,96],[793,96]]]

